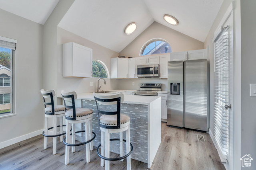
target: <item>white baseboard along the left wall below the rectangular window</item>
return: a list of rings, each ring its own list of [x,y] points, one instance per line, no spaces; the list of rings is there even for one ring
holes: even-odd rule
[[[32,133],[28,133],[26,135],[22,135],[20,137],[16,137],[14,139],[10,139],[8,141],[4,141],[2,143],[0,143],[0,149],[4,148],[4,147],[8,147],[10,145],[13,145],[15,143],[18,143],[18,142],[21,142],[21,141],[24,141],[26,139],[29,139],[29,138],[32,138],[32,137],[35,137],[37,135],[40,135],[42,134],[42,132],[44,131],[44,129],[40,129],[38,131],[34,131]]]

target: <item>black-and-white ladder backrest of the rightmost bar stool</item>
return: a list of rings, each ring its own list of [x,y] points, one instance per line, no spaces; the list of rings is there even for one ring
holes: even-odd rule
[[[98,120],[99,120],[99,125],[102,128],[105,129],[120,129],[120,106],[121,103],[124,102],[124,94],[114,94],[114,95],[109,95],[109,94],[97,94],[93,93],[94,99],[96,102],[97,110],[98,110]],[[116,111],[103,111],[100,110],[98,107],[98,104],[101,105],[117,105]],[[117,124],[116,126],[109,126],[109,125],[102,125],[100,124],[100,114],[102,115],[117,115]]]

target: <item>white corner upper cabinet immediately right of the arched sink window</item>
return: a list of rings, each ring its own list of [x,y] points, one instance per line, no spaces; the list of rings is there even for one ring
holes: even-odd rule
[[[110,78],[128,78],[128,59],[110,59]]]

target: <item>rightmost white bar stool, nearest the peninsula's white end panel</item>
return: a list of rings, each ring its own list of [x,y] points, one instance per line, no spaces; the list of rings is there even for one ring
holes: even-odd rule
[[[127,170],[131,169],[131,156],[133,147],[130,143],[130,117],[120,113],[120,104],[124,102],[124,94],[106,95],[93,93],[98,109],[98,120],[101,130],[101,144],[97,148],[97,154],[101,158],[100,166],[105,170],[110,169],[109,161],[127,159]],[[100,105],[117,105],[117,111],[100,110]],[[104,109],[104,107],[103,107]],[[101,114],[101,116],[100,116]],[[123,132],[126,131],[126,140],[123,139]],[[110,133],[119,133],[120,139],[110,139]],[[110,158],[110,141],[120,142],[120,158]],[[126,155],[124,155],[123,141],[126,142]],[[101,154],[99,149],[101,147]]]

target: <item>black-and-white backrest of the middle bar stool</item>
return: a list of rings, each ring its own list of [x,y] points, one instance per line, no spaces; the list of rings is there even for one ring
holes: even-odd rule
[[[68,120],[76,120],[76,105],[75,100],[77,98],[76,92],[64,92],[64,90],[61,90],[61,95],[63,97],[65,110],[72,109],[73,111],[73,117],[66,117]],[[67,106],[66,101],[72,101],[72,106]]]

